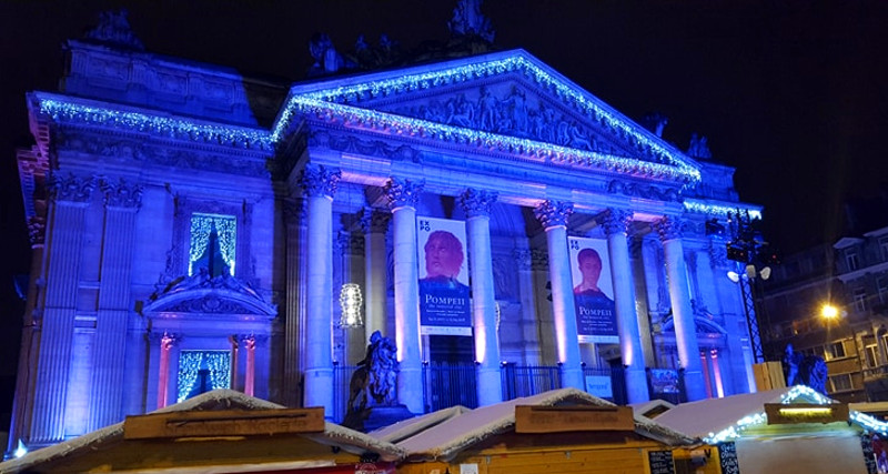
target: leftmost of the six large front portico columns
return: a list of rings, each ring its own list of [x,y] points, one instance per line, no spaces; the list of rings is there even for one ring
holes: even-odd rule
[[[307,164],[301,184],[309,201],[304,405],[333,415],[333,194],[342,173]]]

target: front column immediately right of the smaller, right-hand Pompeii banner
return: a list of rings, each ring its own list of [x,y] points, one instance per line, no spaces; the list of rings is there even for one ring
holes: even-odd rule
[[[607,253],[610,255],[610,278],[614,283],[619,350],[623,355],[623,365],[626,367],[626,394],[628,403],[642,403],[650,400],[650,396],[647,391],[638,314],[635,311],[635,279],[632,273],[627,242],[630,222],[632,212],[610,209],[605,214],[602,224],[607,234]]]

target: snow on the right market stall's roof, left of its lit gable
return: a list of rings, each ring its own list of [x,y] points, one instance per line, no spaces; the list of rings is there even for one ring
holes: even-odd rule
[[[705,437],[764,412],[766,403],[780,403],[789,391],[784,387],[682,403],[657,416],[657,422],[689,436]]]

